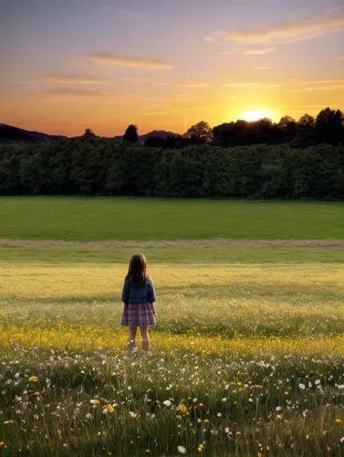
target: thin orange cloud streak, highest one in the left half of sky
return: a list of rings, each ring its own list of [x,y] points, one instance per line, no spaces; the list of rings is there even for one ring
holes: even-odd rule
[[[172,65],[159,58],[130,58],[98,53],[87,57],[91,62],[137,69],[172,69]]]

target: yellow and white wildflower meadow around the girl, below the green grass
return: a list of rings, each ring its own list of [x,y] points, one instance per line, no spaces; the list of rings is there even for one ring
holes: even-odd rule
[[[151,353],[127,264],[5,261],[0,456],[344,456],[344,264],[159,263]]]

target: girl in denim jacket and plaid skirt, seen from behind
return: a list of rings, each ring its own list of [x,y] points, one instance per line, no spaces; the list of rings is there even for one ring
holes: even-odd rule
[[[158,316],[154,305],[154,284],[146,269],[147,260],[143,254],[135,254],[131,257],[122,291],[124,309],[120,324],[129,327],[128,349],[135,346],[137,327],[140,327],[142,349],[149,351],[148,327],[156,324]]]

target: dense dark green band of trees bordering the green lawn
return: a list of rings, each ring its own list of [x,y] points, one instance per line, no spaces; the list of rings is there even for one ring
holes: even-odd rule
[[[0,194],[344,199],[344,145],[158,149],[92,135],[3,144]]]

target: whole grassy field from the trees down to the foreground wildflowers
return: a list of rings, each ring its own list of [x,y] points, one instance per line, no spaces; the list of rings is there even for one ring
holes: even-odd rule
[[[0,211],[0,456],[344,456],[342,206],[28,198],[27,216],[18,209],[26,200],[12,201],[20,223]],[[75,202],[84,223],[64,226]],[[192,215],[162,220],[156,241],[135,223],[127,236],[122,224],[109,236],[109,220],[85,225],[97,202],[102,217],[120,205],[121,222],[141,205],[159,220],[169,207],[186,215],[197,205],[213,215],[234,206],[241,217],[221,229],[215,217],[202,229]],[[285,218],[280,236],[273,214]],[[122,240],[85,242],[108,236]],[[158,295],[149,355],[128,354],[120,327],[123,277],[138,250]]]

